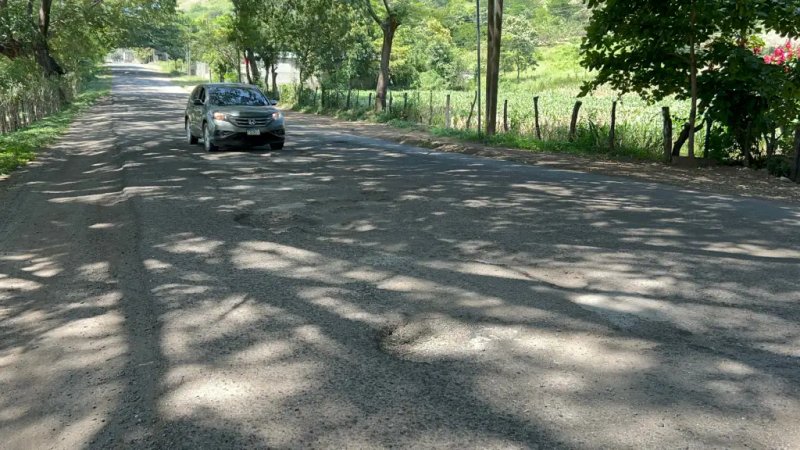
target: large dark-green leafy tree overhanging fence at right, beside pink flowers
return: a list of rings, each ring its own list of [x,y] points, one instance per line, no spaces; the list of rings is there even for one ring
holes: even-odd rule
[[[754,34],[800,34],[800,0],[589,0],[588,6],[582,64],[597,77],[583,93],[608,84],[652,101],[691,99],[682,133],[690,157],[698,112],[727,127],[749,164],[776,105],[797,103],[784,98],[793,89],[791,70],[765,67],[747,43]],[[794,109],[781,107],[780,120]]]

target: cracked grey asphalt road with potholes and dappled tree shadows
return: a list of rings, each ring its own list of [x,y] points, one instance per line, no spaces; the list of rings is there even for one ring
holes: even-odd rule
[[[0,447],[800,448],[800,208],[289,115],[139,67],[0,185]]]

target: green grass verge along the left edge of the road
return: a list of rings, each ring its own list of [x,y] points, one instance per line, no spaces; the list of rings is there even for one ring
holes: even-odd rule
[[[83,92],[62,111],[45,117],[27,128],[0,134],[0,175],[27,164],[36,152],[53,143],[81,112],[111,92],[111,75],[102,73],[87,83]]]

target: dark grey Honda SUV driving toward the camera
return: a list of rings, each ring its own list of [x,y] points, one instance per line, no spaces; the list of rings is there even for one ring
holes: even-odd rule
[[[286,139],[283,113],[257,87],[238,83],[208,83],[194,88],[186,105],[186,141],[200,138],[207,152],[220,146],[280,150]]]

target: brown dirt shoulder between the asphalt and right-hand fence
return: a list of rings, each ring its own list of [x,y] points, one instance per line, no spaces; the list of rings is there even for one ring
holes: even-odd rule
[[[629,177],[637,181],[664,183],[711,194],[740,195],[800,203],[800,185],[771,176],[765,170],[756,171],[743,167],[722,166],[686,168],[654,162],[619,161],[569,154],[531,152],[463,142],[453,138],[435,136],[426,131],[401,129],[387,124],[345,121],[325,115],[291,111],[289,120],[291,121],[293,118],[314,120],[334,131],[384,139],[440,152],[463,153],[520,164]],[[291,122],[289,131],[291,132]]]

